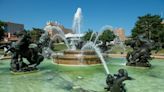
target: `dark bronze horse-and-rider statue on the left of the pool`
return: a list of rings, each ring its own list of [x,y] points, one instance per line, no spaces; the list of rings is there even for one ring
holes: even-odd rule
[[[37,66],[43,61],[44,57],[39,53],[37,44],[32,44],[31,37],[26,33],[18,34],[19,40],[14,47],[8,49],[13,53],[11,59],[11,71],[13,72],[26,72],[36,70]],[[26,58],[29,64],[23,62]]]

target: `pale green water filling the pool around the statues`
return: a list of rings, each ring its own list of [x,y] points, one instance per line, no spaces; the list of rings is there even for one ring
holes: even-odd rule
[[[110,73],[124,68],[129,76],[135,78],[126,81],[128,92],[162,92],[164,90],[164,60],[151,61],[151,68],[125,66],[123,59],[110,59],[107,65]],[[14,75],[10,73],[10,61],[0,61],[0,92],[79,92],[80,87],[89,92],[105,92],[105,71],[102,65],[61,66],[45,60],[40,71]]]

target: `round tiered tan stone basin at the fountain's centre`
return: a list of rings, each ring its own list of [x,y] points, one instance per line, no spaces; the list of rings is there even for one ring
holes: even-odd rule
[[[63,55],[54,55],[53,62],[66,65],[92,65],[101,61],[94,50],[67,50]]]

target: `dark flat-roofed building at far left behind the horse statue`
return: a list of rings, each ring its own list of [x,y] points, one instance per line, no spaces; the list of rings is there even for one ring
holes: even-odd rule
[[[23,24],[12,23],[12,22],[6,22],[6,24],[7,24],[7,26],[5,27],[5,30],[7,33],[14,34],[18,31],[24,30]]]

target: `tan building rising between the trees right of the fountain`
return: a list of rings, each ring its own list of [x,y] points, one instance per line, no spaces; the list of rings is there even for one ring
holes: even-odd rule
[[[114,40],[115,43],[119,43],[120,41],[125,42],[126,36],[123,28],[116,28],[114,34],[117,36]]]

